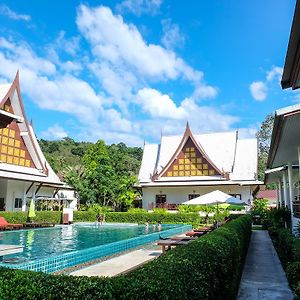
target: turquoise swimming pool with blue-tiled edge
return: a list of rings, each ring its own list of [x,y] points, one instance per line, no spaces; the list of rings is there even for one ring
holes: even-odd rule
[[[0,266],[55,272],[189,230],[189,225],[79,223],[0,233],[0,244],[22,245],[23,253],[5,256]]]

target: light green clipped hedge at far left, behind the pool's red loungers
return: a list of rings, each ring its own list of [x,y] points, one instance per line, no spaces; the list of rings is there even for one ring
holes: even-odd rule
[[[36,211],[33,218],[35,222],[51,222],[59,224],[61,222],[60,211]],[[28,212],[0,212],[0,216],[4,217],[10,223],[25,223],[27,221]]]

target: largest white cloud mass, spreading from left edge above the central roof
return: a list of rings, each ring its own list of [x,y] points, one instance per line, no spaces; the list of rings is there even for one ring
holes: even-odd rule
[[[44,55],[22,40],[0,38],[1,81],[11,81],[19,69],[24,96],[41,109],[75,117],[68,125],[74,138],[142,145],[144,138],[157,139],[160,127],[167,134],[182,132],[187,120],[195,132],[229,130],[238,121],[222,108],[199,106],[198,100],[217,95],[203,72],[173,50],[147,43],[136,26],[109,8],[81,5],[77,25],[82,36],[67,38],[62,31]],[[79,51],[82,38],[90,47],[84,53]],[[151,88],[171,80],[184,81],[193,92],[176,103]],[[63,135],[57,126],[50,130]]]

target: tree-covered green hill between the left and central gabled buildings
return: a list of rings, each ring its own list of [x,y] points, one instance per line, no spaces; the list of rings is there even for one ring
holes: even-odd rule
[[[124,143],[106,145],[60,141],[39,141],[53,170],[74,186],[81,204],[112,206],[124,210],[137,198],[133,189],[142,160],[142,149]]]

